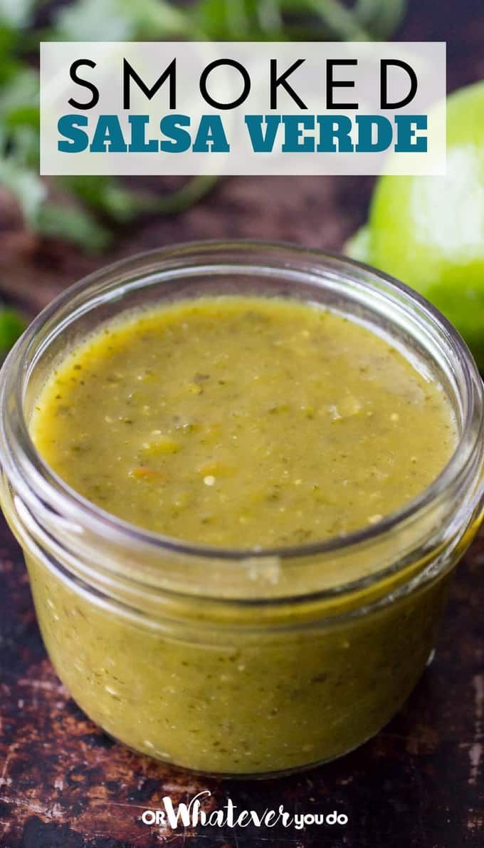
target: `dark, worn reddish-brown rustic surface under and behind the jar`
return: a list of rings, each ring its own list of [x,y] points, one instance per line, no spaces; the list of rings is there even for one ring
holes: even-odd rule
[[[411,3],[400,37],[447,40],[449,88],[484,77],[481,0]],[[339,249],[364,220],[364,178],[240,178],[170,219],[118,234],[108,255],[39,243],[0,198],[0,293],[29,315],[107,261],[204,237]],[[114,744],[75,706],[42,647],[22,557],[0,526],[0,845],[3,848],[478,848],[484,845],[484,535],[459,566],[437,656],[403,711],[339,762],[262,783],[194,778]],[[139,822],[164,795],[210,789],[262,812],[337,808],[344,828],[171,834]]]

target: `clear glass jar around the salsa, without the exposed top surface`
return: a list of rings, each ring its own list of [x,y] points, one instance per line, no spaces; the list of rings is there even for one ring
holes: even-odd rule
[[[373,326],[441,383],[459,443],[381,522],[280,550],[149,533],[72,491],[28,421],[55,363],[122,310],[202,295],[298,298]],[[287,773],[341,756],[420,678],[484,502],[483,392],[430,304],[367,266],[265,243],[194,243],[111,265],[36,318],[0,376],[0,499],[59,678],[108,734],[203,773]]]

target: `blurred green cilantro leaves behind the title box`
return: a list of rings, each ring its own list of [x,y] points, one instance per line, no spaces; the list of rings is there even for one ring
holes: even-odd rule
[[[94,252],[108,246],[112,226],[143,212],[180,212],[214,183],[198,178],[160,197],[116,177],[66,177],[55,190],[76,203],[60,209],[38,176],[40,41],[379,40],[392,36],[405,7],[406,0],[357,0],[352,7],[340,0],[0,0],[0,183],[33,232]]]

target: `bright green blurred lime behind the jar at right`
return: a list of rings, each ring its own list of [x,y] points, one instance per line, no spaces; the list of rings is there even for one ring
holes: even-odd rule
[[[484,81],[447,101],[447,175],[381,176],[348,253],[414,287],[484,369]]]

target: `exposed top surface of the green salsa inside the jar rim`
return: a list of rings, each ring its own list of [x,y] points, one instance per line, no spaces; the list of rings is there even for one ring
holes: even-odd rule
[[[243,297],[97,332],[47,382],[31,432],[60,477],[128,522],[264,548],[378,522],[456,438],[441,389],[374,332]]]

